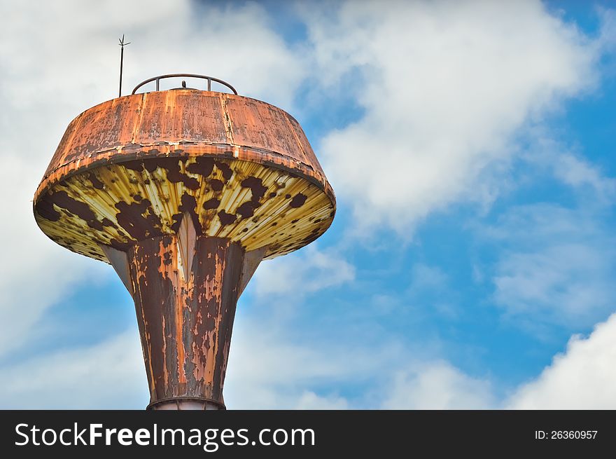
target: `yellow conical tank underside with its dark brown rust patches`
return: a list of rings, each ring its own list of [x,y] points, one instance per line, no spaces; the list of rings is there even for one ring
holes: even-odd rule
[[[38,226],[73,252],[106,261],[100,245],[177,232],[187,212],[200,235],[228,238],[278,256],[316,239],[333,217],[318,186],[244,160],[168,156],[75,174],[36,204]]]

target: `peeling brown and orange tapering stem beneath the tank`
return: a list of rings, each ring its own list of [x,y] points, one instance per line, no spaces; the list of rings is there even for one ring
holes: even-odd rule
[[[200,236],[194,250],[188,278],[175,236],[142,240],[127,252],[151,404],[190,398],[224,407],[244,249]]]

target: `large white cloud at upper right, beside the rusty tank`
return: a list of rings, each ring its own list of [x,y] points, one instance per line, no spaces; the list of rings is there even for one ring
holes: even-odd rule
[[[348,1],[304,14],[321,81],[364,110],[323,139],[325,170],[360,229],[406,237],[429,212],[493,199],[489,172],[520,128],[591,88],[608,43],[538,1]]]

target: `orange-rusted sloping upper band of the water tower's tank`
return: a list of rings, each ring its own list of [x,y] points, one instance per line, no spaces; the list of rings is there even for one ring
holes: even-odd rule
[[[223,148],[194,148],[204,145]],[[333,199],[321,165],[293,117],[249,97],[199,90],[118,97],[84,111],[66,129],[36,196],[96,160],[109,164],[171,153],[271,161],[314,179]]]

